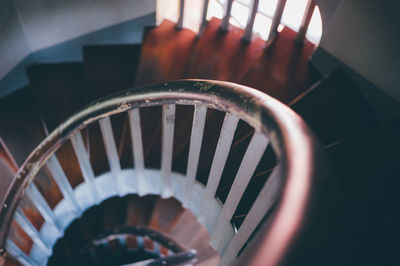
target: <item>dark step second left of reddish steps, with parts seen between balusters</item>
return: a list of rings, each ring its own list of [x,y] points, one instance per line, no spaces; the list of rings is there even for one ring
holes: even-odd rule
[[[73,113],[82,108],[83,64],[78,62],[38,64],[27,69],[35,102],[49,132],[54,130]],[[72,187],[83,182],[82,173],[71,143],[68,141],[56,156]],[[50,206],[55,206],[62,194],[51,177],[45,173],[35,180]]]

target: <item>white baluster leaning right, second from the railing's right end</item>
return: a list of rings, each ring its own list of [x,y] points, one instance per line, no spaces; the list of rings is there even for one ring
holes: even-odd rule
[[[227,237],[230,236],[230,234],[225,234],[225,232],[227,230],[231,231],[231,228],[229,227],[232,227],[230,223],[232,216],[250,182],[250,178],[256,170],[258,163],[267,148],[268,142],[267,136],[261,132],[257,132],[254,134],[249,146],[247,147],[235,180],[229,191],[229,195],[215,225],[214,233],[210,239],[210,244],[215,250],[221,252],[225,251],[229,241],[231,240]]]

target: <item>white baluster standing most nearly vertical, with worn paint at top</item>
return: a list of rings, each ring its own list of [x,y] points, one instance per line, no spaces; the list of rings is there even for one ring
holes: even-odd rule
[[[162,113],[162,151],[161,151],[161,179],[162,192],[164,198],[171,197],[172,180],[171,167],[174,147],[174,126],[175,126],[175,105],[168,104],[163,106]]]

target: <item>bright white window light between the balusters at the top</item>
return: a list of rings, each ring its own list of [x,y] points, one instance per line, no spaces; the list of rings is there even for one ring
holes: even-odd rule
[[[212,17],[222,19],[225,15],[226,4],[228,0],[210,0],[208,5],[207,19]],[[249,6],[252,0],[234,0],[229,22],[237,27],[245,28],[247,18],[249,16]],[[163,11],[164,18],[172,19],[177,17],[178,0],[158,0],[157,14]],[[281,25],[278,31],[287,26],[294,31],[298,31],[307,7],[308,0],[287,0],[285,9],[282,14]],[[201,23],[201,10],[203,10],[203,0],[186,0],[184,27],[193,31],[198,31]],[[272,18],[274,17],[275,9],[278,0],[260,0],[258,5],[258,13],[254,22],[254,33],[260,38],[268,38]],[[157,21],[160,19],[157,17]],[[176,19],[175,19],[176,21]],[[322,21],[319,8],[316,6],[312,15],[310,25],[307,31],[307,39],[314,44],[318,44],[322,35]]]

